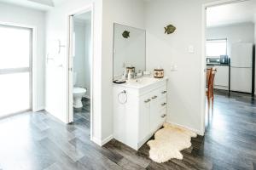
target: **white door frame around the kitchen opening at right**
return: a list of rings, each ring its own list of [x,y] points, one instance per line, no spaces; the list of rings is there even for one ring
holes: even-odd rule
[[[212,3],[204,3],[201,8],[201,135],[205,133],[206,117],[206,30],[207,30],[207,8],[231,3],[241,3],[250,0],[218,0]]]

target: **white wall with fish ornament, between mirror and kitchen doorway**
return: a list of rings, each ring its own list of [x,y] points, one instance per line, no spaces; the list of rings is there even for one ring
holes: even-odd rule
[[[147,69],[161,65],[168,82],[167,122],[201,129],[202,68],[202,4],[211,0],[155,0],[146,3]],[[164,34],[164,27],[172,24],[177,30]],[[195,52],[190,54],[189,45]],[[177,65],[177,71],[171,71]]]

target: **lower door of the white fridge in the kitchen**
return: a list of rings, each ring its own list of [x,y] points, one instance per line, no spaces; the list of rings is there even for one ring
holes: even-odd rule
[[[230,90],[252,93],[252,68],[231,67]]]

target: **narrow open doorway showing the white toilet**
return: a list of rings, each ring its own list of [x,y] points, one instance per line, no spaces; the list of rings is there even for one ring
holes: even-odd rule
[[[68,122],[92,132],[92,10],[69,16]],[[90,135],[91,137],[91,135]]]

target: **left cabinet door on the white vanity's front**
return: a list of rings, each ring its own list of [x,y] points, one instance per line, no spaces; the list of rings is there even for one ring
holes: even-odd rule
[[[140,111],[139,111],[139,141],[145,139],[149,132],[149,122],[150,122],[150,102],[151,99],[148,94],[140,97]]]

